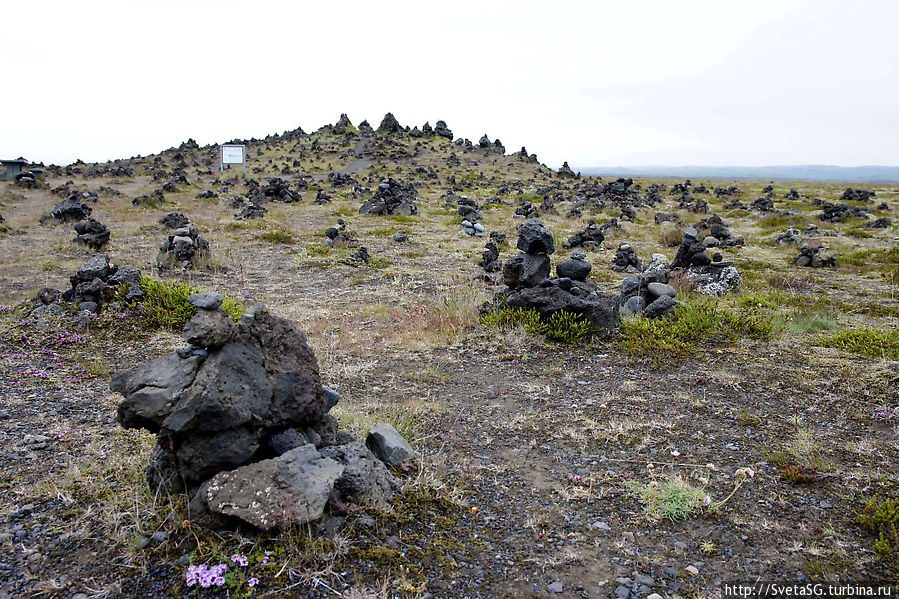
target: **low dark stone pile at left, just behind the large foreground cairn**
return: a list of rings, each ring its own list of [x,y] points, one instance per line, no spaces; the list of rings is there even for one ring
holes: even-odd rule
[[[97,254],[87,260],[69,277],[69,284],[69,289],[61,294],[54,289],[42,289],[38,293],[39,305],[31,312],[30,318],[39,320],[46,316],[70,316],[70,310],[61,302],[75,304],[79,312],[96,314],[107,306],[122,285],[126,287],[123,298],[126,303],[144,295],[140,287],[140,271],[133,266],[111,263],[108,254]]]

